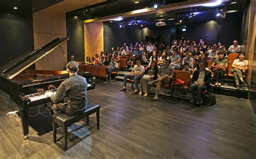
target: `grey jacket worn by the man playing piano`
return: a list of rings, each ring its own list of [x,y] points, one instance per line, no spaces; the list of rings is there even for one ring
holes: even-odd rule
[[[57,108],[61,107],[63,110],[65,107],[65,113],[75,115],[86,110],[86,95],[86,78],[74,74],[59,85],[56,95],[52,95],[51,100],[56,104]],[[69,98],[67,103],[64,103],[64,97]]]

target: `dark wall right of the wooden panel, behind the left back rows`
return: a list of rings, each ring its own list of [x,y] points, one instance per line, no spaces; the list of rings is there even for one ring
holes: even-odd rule
[[[124,42],[129,46],[131,43],[142,41],[142,30],[139,26],[119,27],[117,23],[104,22],[104,52],[109,52],[112,47],[123,46]]]

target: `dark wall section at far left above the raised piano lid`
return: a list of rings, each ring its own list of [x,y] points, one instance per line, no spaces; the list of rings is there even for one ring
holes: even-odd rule
[[[30,0],[23,3],[1,2],[0,12],[0,66],[34,49],[33,18]],[[18,6],[14,10],[14,6]]]

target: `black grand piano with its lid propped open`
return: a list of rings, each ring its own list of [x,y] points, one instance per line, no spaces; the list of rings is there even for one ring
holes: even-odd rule
[[[46,91],[55,92],[56,89],[48,90],[48,86],[52,84],[58,88],[62,81],[69,78],[67,71],[26,69],[69,39],[69,37],[56,38],[41,48],[9,61],[0,68],[0,89],[8,93],[10,99],[19,108],[24,139],[28,138],[29,134],[29,108],[51,101],[49,96],[46,96],[44,92],[37,92],[37,89],[43,88]],[[95,89],[95,83],[89,79],[90,73],[79,72],[78,75],[87,79],[87,90]]]

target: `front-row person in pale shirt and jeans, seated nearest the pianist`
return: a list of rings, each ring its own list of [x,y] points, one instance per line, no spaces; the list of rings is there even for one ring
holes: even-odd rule
[[[140,65],[140,60],[136,60],[136,65],[134,65],[130,75],[124,75],[124,86],[123,86],[123,89],[121,89],[120,91],[127,90],[126,83],[127,83],[127,78],[129,78],[129,79],[134,79],[135,90],[132,92],[132,94],[137,93],[139,80],[140,78],[142,78],[144,71],[145,71],[144,66]]]

